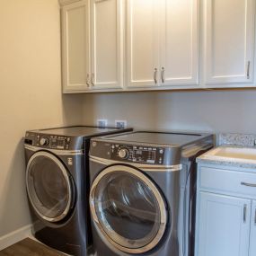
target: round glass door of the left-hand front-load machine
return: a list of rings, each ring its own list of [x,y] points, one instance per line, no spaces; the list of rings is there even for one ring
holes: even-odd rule
[[[54,154],[39,151],[31,156],[26,185],[31,206],[43,220],[57,223],[70,213],[75,199],[74,182]]]

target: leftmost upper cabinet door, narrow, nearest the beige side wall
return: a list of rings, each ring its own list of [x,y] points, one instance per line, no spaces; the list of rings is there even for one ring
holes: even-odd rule
[[[87,90],[89,86],[89,13],[87,2],[62,8],[62,68],[64,93]]]

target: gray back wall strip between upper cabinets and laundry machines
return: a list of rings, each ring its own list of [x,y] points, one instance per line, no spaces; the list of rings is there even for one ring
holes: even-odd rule
[[[84,123],[127,119],[135,128],[256,134],[256,91],[106,93],[84,96]]]

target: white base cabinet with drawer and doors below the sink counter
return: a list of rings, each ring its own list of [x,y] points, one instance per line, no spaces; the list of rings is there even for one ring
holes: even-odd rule
[[[196,256],[256,255],[256,188],[243,185],[252,172],[199,164]]]

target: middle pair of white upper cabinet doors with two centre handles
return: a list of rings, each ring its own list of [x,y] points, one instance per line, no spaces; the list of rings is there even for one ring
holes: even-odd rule
[[[128,0],[128,86],[198,84],[197,0]]]

